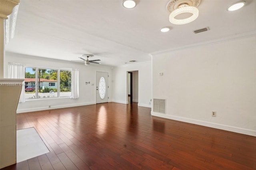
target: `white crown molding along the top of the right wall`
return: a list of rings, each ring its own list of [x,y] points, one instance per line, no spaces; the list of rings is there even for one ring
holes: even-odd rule
[[[153,53],[150,53],[150,54],[152,56],[154,56],[154,55],[170,53],[170,52],[174,52],[174,51],[181,51],[181,50],[184,50],[184,49],[202,47],[202,46],[206,46],[206,45],[213,45],[213,44],[216,44],[216,43],[223,43],[223,42],[229,42],[229,41],[233,41],[233,40],[240,40],[240,39],[250,38],[250,37],[254,37],[254,36],[256,36],[256,31],[248,32],[248,33],[244,33],[244,34],[238,34],[238,35],[234,35],[234,36],[229,36],[229,37],[225,37],[225,38],[220,38],[220,39],[216,39],[216,40],[210,40],[210,41],[206,41],[206,42],[184,45],[184,46],[181,46],[181,47],[175,47],[175,48],[166,49],[166,50],[162,50],[162,51],[156,51],[156,52],[153,52]]]

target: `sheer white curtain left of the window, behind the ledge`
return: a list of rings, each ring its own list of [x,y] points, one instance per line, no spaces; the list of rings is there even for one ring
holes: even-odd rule
[[[24,79],[25,78],[25,66],[20,63],[8,63],[8,78]],[[19,102],[25,102],[25,101],[26,101],[26,99],[25,99],[25,81],[23,81]]]

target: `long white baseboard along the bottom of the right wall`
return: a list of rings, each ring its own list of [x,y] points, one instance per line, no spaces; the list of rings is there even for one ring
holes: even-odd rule
[[[171,120],[174,120],[174,121],[192,123],[192,124],[195,124],[195,125],[201,125],[201,126],[205,126],[205,127],[217,128],[217,129],[221,129],[221,130],[227,130],[227,131],[230,131],[230,132],[236,132],[236,133],[246,134],[246,135],[250,135],[250,136],[256,136],[256,130],[244,129],[244,128],[239,128],[239,127],[232,127],[232,126],[228,126],[228,125],[220,125],[220,124],[216,124],[216,123],[198,121],[198,120],[195,120],[195,119],[188,119],[188,118],[184,118],[184,117],[177,117],[177,116],[166,115],[166,114],[161,114],[161,113],[156,113],[156,112],[151,112],[151,115],[156,116],[156,117],[171,119]]]

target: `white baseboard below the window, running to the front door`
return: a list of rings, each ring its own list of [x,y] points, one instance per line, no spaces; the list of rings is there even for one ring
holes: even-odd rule
[[[17,110],[16,113],[26,113],[26,112],[35,112],[35,111],[44,111],[44,110],[51,110],[51,109],[61,109],[67,107],[76,107],[76,106],[85,106],[85,105],[94,105],[96,102],[89,102],[89,103],[77,103],[71,105],[59,105],[59,106],[51,106],[49,107],[38,107],[38,108],[31,108],[31,109],[20,109]]]

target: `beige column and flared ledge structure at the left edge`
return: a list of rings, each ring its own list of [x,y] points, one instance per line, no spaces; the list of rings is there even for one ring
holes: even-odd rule
[[[20,0],[0,0],[0,168],[16,163],[16,109],[23,79],[4,78],[4,19]],[[7,86],[7,84],[18,86]],[[9,105],[12,103],[11,105]]]

